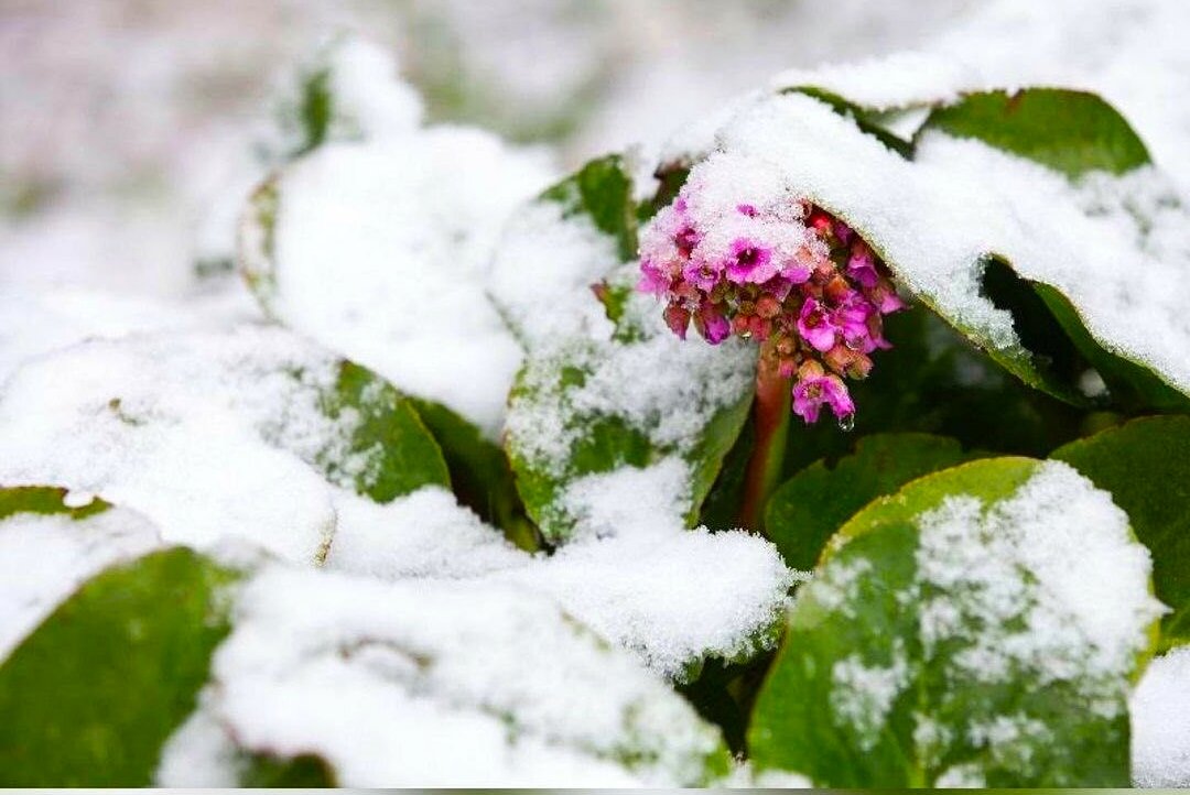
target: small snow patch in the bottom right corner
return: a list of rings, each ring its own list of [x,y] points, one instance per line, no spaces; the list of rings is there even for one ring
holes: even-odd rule
[[[1129,702],[1136,787],[1190,787],[1190,648],[1154,658]]]

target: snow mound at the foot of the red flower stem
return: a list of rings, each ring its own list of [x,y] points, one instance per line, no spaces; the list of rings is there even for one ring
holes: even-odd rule
[[[776,643],[793,573],[768,541],[685,530],[685,465],[662,460],[575,481],[578,535],[533,568],[491,579],[541,591],[654,670],[684,679],[707,656]]]

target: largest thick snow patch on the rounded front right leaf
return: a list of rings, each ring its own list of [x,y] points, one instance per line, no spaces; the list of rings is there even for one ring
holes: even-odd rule
[[[1150,593],[1148,550],[1110,494],[1048,461],[1009,499],[951,496],[919,526],[919,578],[937,594],[922,601],[935,618],[921,626],[927,654],[962,641],[956,677],[1027,671],[1039,686],[1073,683],[1096,714],[1117,712],[1165,608]]]

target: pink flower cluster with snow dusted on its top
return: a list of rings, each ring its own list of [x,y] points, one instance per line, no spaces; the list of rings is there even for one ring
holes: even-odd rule
[[[732,334],[794,378],[794,412],[823,405],[844,427],[856,412],[845,378],[865,378],[891,347],[884,315],[904,308],[888,270],[839,219],[797,198],[709,208],[688,184],[644,229],[638,288],[665,301],[665,322],[712,345]]]

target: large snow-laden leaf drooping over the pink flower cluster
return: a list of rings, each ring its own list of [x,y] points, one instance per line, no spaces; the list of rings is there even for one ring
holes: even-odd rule
[[[1003,95],[989,96],[967,99],[982,107]],[[913,159],[865,134],[854,118],[839,114],[847,108],[838,103],[804,92],[756,97],[719,128],[716,147],[691,178],[744,195],[759,189],[749,175],[765,173],[760,182],[825,207],[856,228],[919,301],[1002,367],[1085,404],[1079,379],[1056,370],[1050,352],[1029,347],[1039,337],[1027,339],[1021,327],[1032,320],[1022,322],[1014,316],[1017,307],[987,295],[985,272],[1007,263],[1026,283],[1050,285],[1039,289],[1042,302],[1029,311],[1066,330],[1067,347],[1101,371],[1111,398],[1184,405],[1184,204],[1152,166],[1133,168],[1142,163],[1144,147],[1109,106],[1078,93],[1040,96],[1022,106],[1036,111],[1022,113],[1023,122],[1009,114],[1003,130],[979,132],[992,144],[1007,141],[1008,151],[971,138],[987,126],[987,114],[960,124],[960,102],[942,116],[947,125],[919,131]],[[1045,124],[1056,105],[1072,106],[1069,128]],[[1059,171],[1048,160],[1064,141],[1073,153],[1063,156]],[[1066,173],[1071,158],[1082,163],[1075,184]],[[1136,265],[1120,267],[1123,261]]]

